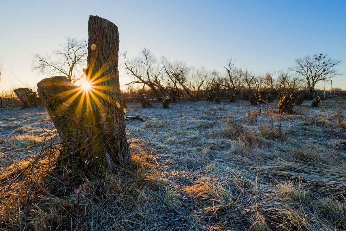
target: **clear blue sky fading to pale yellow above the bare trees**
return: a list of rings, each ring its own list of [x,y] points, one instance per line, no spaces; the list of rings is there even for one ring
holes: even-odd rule
[[[120,51],[145,47],[160,57],[224,72],[284,70],[294,59],[329,53],[341,59],[333,87],[346,88],[346,1],[7,1],[0,0],[0,90],[34,87],[32,53],[51,53],[66,36],[88,40],[89,15],[119,27]],[[13,73],[11,73],[11,70]],[[120,69],[120,85],[129,77]],[[323,86],[323,83],[321,83]]]

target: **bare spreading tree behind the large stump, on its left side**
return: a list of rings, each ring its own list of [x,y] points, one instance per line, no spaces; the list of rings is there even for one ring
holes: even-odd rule
[[[51,55],[33,54],[32,71],[47,76],[64,74],[72,83],[81,79],[88,55],[86,43],[83,39],[76,37],[65,39],[66,43],[59,44],[60,48],[53,51]]]

